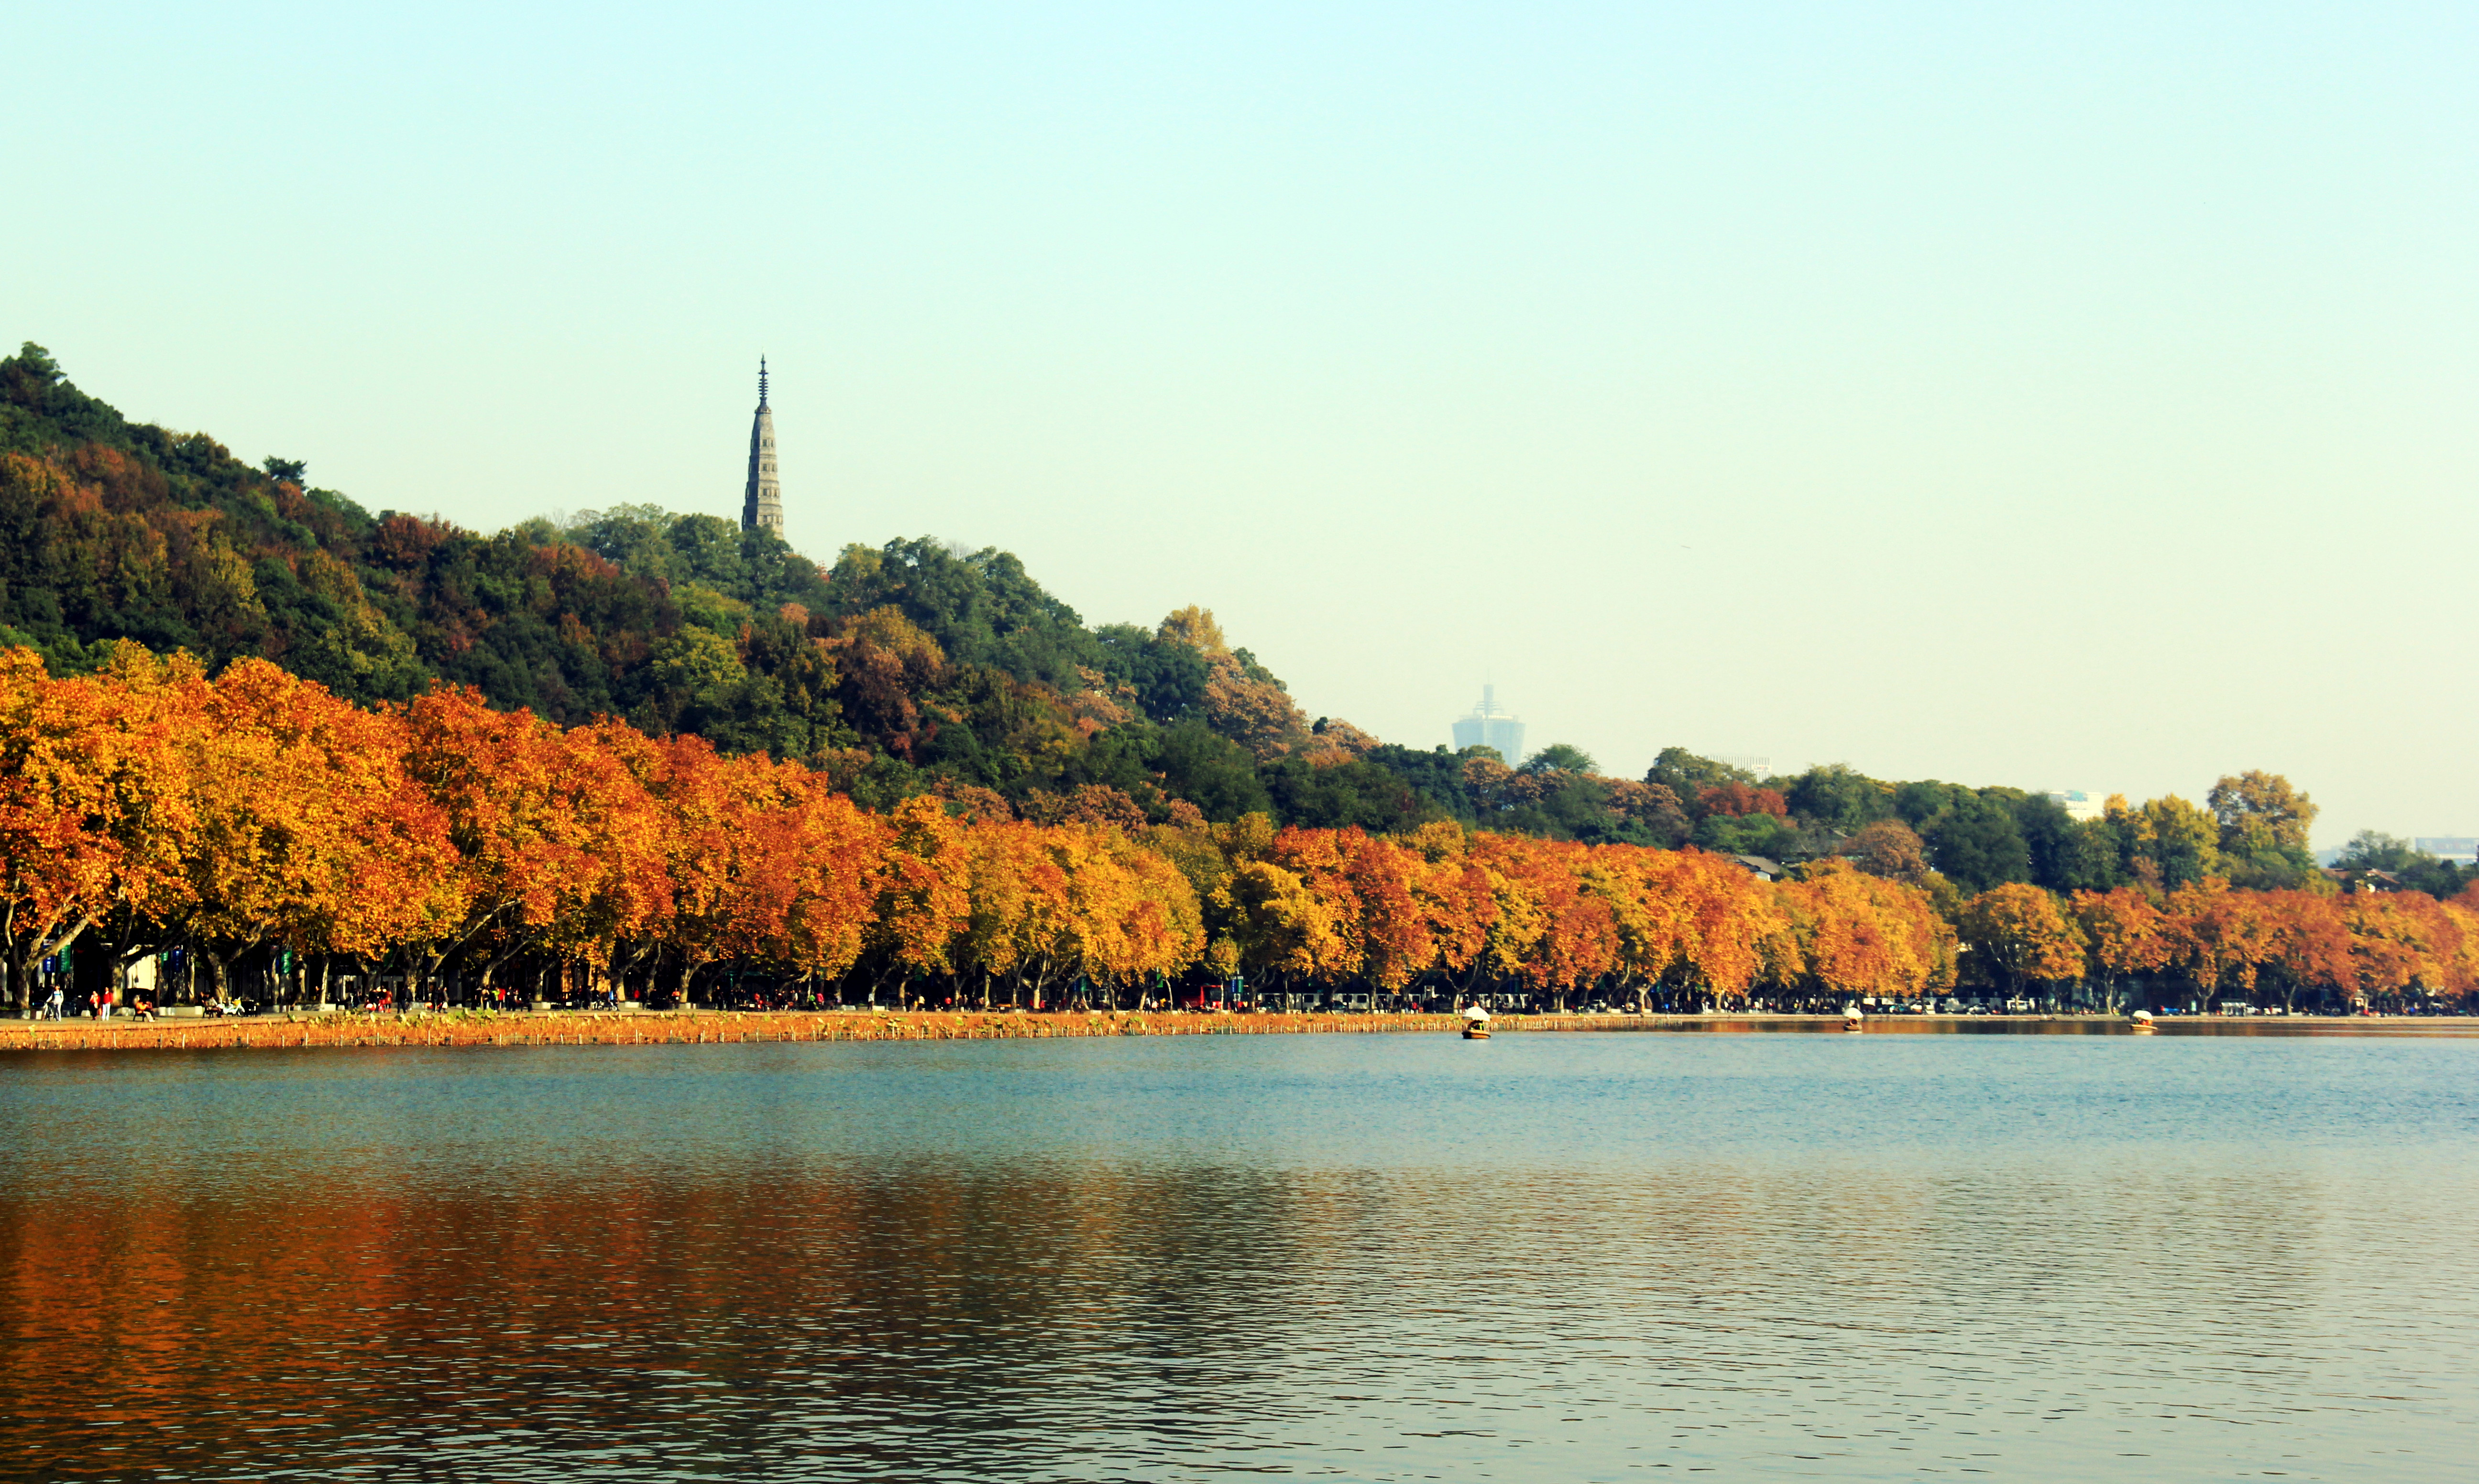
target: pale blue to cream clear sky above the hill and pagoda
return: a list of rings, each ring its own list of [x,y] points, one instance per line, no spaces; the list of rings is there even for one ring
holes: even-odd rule
[[[498,528],[1004,545],[1416,746],[2479,832],[2469,5],[0,15],[0,337]]]

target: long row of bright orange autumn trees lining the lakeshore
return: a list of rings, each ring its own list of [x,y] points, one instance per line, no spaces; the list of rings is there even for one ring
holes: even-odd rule
[[[1138,1003],[1257,993],[1832,1003],[1981,984],[2182,984],[2353,1003],[2467,996],[2479,902],[2415,892],[2053,894],[1847,860],[1770,882],[1720,855],[1430,823],[1277,830],[989,790],[858,808],[828,775],[471,689],[354,706],[273,664],[124,644],[97,674],[0,654],[10,998],[67,951],[181,954],[226,998],[290,964],[540,993]]]

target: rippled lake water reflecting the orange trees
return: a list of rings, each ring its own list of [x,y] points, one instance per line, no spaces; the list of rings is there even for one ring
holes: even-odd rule
[[[2472,1479],[2479,1043],[0,1058],[0,1474]]]

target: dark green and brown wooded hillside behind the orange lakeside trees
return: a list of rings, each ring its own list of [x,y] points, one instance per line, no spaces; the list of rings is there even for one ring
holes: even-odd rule
[[[1606,778],[1532,758],[1381,743],[1311,718],[1212,614],[1088,627],[1004,550],[930,538],[845,548],[830,570],[716,515],[620,505],[496,535],[250,466],[206,434],[131,424],[27,344],[0,362],[0,647],[87,674],[114,639],[208,671],[268,659],[327,691],[409,701],[473,686],[575,726],[615,716],[726,756],[801,761],[868,808],[1123,827],[1262,813],[1401,835],[1433,820],[1587,845],[1701,845],[1780,865],[1854,860],[1956,897],[2323,887],[2313,803],[2224,778],[2196,805],[2112,800],[2072,820],[2020,788],[1795,778],[1666,748]],[[2367,837],[2350,865],[2437,897],[2449,865]]]

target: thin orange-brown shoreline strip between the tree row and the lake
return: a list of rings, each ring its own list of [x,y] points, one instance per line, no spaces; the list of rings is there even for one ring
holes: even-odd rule
[[[231,1021],[0,1021],[0,1050],[218,1050],[302,1045],[729,1045],[751,1041],[1034,1041],[1061,1036],[1453,1033],[1425,1013],[1197,1011],[295,1011]],[[1842,1016],[1497,1016],[1490,1028],[1844,1033]],[[1872,1016],[1867,1033],[2132,1036],[2120,1016]],[[2162,1036],[2479,1036],[2474,1016],[2174,1016]]]

